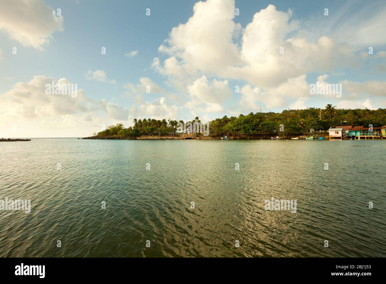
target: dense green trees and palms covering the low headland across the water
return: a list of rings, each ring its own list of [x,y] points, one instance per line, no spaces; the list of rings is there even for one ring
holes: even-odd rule
[[[165,119],[134,119],[133,127],[124,128],[123,124],[109,126],[105,131],[99,132],[98,136],[127,136],[136,137],[141,135],[169,135],[177,133],[178,122],[175,120],[166,121]],[[192,121],[201,122],[198,117]],[[283,125],[280,130],[280,125]],[[330,127],[339,125],[357,125],[373,127],[386,124],[386,109],[336,109],[335,106],[328,104],[325,109],[308,108],[303,110],[285,110],[281,113],[257,112],[238,117],[224,116],[209,121],[209,131],[211,134],[238,134],[254,135],[259,133],[277,132],[279,136],[287,136],[294,133],[306,133],[310,129],[314,131],[328,130]],[[95,135],[95,133],[94,133]]]

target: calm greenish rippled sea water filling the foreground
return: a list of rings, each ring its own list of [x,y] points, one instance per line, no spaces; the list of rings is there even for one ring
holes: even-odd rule
[[[385,170],[386,141],[0,142],[0,199],[32,207],[0,257],[385,257]]]

